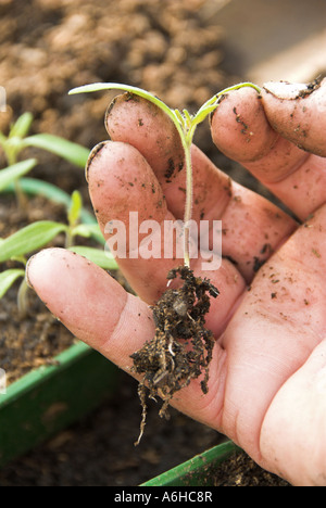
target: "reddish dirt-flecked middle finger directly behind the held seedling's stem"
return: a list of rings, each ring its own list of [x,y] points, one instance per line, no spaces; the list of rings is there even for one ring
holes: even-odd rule
[[[148,101],[125,94],[110,106],[105,122],[111,139],[126,142],[143,155],[161,185],[167,208],[183,219],[186,192],[185,169],[180,169],[183,151],[167,115]],[[265,199],[233,182],[195,145],[191,156],[192,218],[222,220],[223,255],[233,259],[250,282],[296,224]],[[168,173],[168,167],[174,172]]]

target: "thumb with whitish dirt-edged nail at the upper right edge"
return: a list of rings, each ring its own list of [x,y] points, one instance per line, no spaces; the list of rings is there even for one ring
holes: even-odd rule
[[[274,130],[308,152],[326,156],[326,79],[310,85],[267,82],[262,100]]]

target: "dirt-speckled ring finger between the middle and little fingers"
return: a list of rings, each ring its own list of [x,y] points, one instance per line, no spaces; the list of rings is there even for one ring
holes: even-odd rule
[[[88,180],[92,205],[105,240],[110,240],[112,234],[112,219],[118,218],[124,225],[125,231],[124,228],[122,231],[125,234],[121,240],[123,244],[126,243],[126,255],[118,256],[120,267],[136,293],[146,302],[155,303],[166,289],[167,271],[184,263],[183,242],[178,246],[178,252],[181,253],[179,258],[171,255],[173,251],[166,253],[166,243],[170,247],[170,243],[179,244],[180,240],[178,237],[165,238],[166,223],[174,223],[174,217],[166,207],[155,175],[134,147],[109,141],[91,156]],[[136,213],[136,219],[130,216],[130,211]],[[147,232],[141,234],[139,231],[148,218],[151,219],[153,228],[150,243],[158,244],[159,249],[154,246],[152,252],[147,253],[145,249],[141,250],[141,244],[142,247],[146,246],[148,234]],[[197,266],[193,263],[196,272],[200,275],[201,258],[195,262],[198,262]],[[220,333],[225,328],[235,302],[244,290],[244,281],[237,268],[227,259],[222,262],[216,272],[209,271],[205,276],[211,278],[223,292],[223,304],[218,303],[218,318],[214,323],[214,331]],[[213,309],[212,315],[214,315]]]

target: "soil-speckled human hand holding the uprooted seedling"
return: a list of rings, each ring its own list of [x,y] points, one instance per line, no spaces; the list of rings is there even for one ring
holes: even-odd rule
[[[216,336],[209,393],[196,380],[172,401],[228,435],[263,468],[302,485],[326,483],[326,143],[319,116],[325,102],[326,81],[298,100],[279,100],[266,90],[259,99],[241,89],[212,118],[217,147],[277,194],[304,221],[300,227],[230,182],[193,147],[192,216],[222,219],[225,257],[218,270],[206,274],[200,259],[192,262],[196,274],[221,292],[206,320]],[[138,211],[139,223],[183,218],[183,152],[170,120],[152,104],[122,96],[106,122],[112,141],[95,149],[88,166],[102,230],[112,218],[127,225],[129,211]],[[27,275],[76,336],[129,371],[130,354],[153,336],[148,304],[165,290],[167,270],[180,263],[121,259],[140,297],[59,249],[32,258]]]

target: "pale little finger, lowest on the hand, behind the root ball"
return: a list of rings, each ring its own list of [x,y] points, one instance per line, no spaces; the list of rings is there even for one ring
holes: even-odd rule
[[[49,249],[32,257],[27,278],[51,313],[74,335],[134,376],[130,355],[154,335],[148,305],[126,293],[98,266],[62,249]],[[216,344],[210,395],[204,397],[200,382],[193,380],[173,398],[176,408],[203,423],[215,424],[216,405],[223,398],[220,377],[223,379],[224,357]]]

